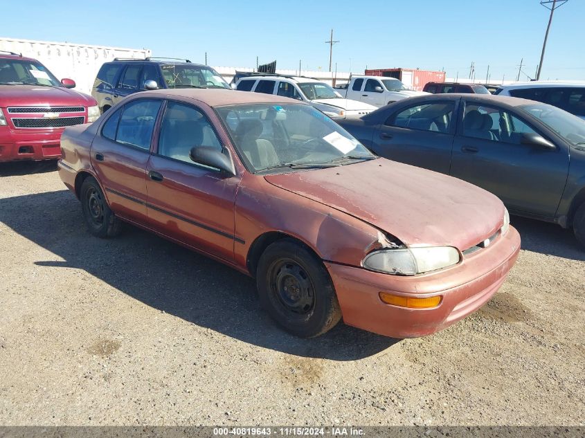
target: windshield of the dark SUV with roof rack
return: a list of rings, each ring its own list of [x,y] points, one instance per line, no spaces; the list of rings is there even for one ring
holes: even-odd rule
[[[162,64],[168,88],[224,88],[231,86],[214,69],[188,64]]]

